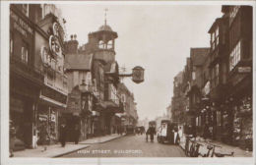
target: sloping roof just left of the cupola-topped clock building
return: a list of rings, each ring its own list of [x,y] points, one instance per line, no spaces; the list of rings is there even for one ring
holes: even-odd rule
[[[91,70],[93,54],[67,54],[65,68],[67,70]]]

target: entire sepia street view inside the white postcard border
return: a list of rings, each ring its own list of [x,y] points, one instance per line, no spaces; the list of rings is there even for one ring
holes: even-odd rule
[[[253,157],[252,11],[10,4],[9,158]]]

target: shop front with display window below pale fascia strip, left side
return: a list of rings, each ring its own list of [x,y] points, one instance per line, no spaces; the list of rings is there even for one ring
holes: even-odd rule
[[[59,139],[59,127],[66,109],[67,96],[49,86],[40,92],[36,111],[35,140],[37,144],[53,144]]]

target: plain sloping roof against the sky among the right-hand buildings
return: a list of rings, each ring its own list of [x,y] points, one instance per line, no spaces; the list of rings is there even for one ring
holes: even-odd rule
[[[205,59],[210,51],[210,48],[191,48],[190,57],[193,66],[201,66],[205,63]]]

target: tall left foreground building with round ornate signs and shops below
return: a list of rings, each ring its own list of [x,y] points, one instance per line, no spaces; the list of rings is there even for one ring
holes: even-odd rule
[[[65,33],[56,11],[54,5],[10,6],[10,120],[27,147],[57,141],[66,107]]]

